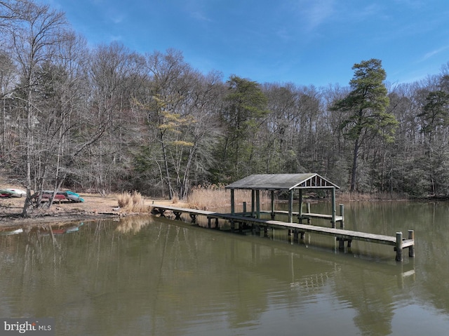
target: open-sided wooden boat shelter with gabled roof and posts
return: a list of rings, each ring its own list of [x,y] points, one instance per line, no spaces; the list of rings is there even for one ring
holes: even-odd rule
[[[288,222],[293,222],[293,215],[297,215],[300,222],[303,219],[309,220],[310,218],[328,219],[332,223],[332,227],[335,227],[336,222],[340,222],[340,227],[344,226],[343,219],[343,206],[340,206],[340,215],[336,215],[335,206],[335,189],[340,189],[336,184],[333,184],[326,178],[316,173],[300,173],[300,174],[256,174],[245,177],[239,181],[231,183],[226,186],[226,189],[231,191],[231,213],[235,214],[235,198],[234,191],[236,189],[246,189],[251,191],[251,215],[256,218],[260,218],[260,191],[271,191],[271,210],[272,219],[274,219],[276,213],[288,214]],[[295,190],[298,190],[299,194],[299,209],[297,212],[293,212],[293,201],[295,196]],[[332,198],[332,213],[331,214],[317,214],[311,213],[309,206],[307,212],[303,211],[303,191],[304,189],[325,189],[330,191]],[[288,192],[288,213],[285,211],[276,211],[274,209],[274,192],[284,191]],[[309,205],[309,203],[308,203]],[[246,209],[243,208],[243,213],[246,213]]]

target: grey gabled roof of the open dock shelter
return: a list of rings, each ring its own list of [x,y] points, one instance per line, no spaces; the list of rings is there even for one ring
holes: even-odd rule
[[[305,174],[257,174],[247,176],[226,186],[226,189],[291,190],[291,189],[340,189],[336,184],[316,173]]]

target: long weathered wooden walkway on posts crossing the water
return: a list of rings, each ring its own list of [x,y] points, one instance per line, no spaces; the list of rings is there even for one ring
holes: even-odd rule
[[[403,249],[408,248],[409,257],[415,257],[415,234],[413,230],[408,231],[408,237],[403,238],[402,232],[396,232],[396,236],[384,236],[382,234],[368,234],[366,232],[351,231],[345,229],[336,229],[330,227],[319,227],[316,225],[300,224],[292,222],[282,222],[279,220],[262,220],[254,217],[244,216],[243,214],[229,214],[229,213],[214,213],[212,211],[190,209],[190,208],[178,208],[174,206],[159,206],[153,204],[153,213],[158,213],[164,216],[166,210],[170,210],[175,215],[176,220],[181,220],[182,213],[186,213],[190,216],[192,222],[196,222],[196,217],[201,215],[208,219],[208,228],[211,227],[211,220],[215,220],[215,228],[218,229],[218,220],[228,220],[231,222],[231,228],[234,231],[235,223],[246,224],[250,227],[280,227],[290,229],[294,232],[295,239],[300,236],[304,238],[305,233],[311,234],[323,234],[326,236],[334,236],[339,241],[339,248],[344,248],[344,241],[347,241],[347,246],[351,246],[353,240],[356,241],[367,241],[369,243],[380,243],[384,245],[394,246],[396,251],[396,261],[403,260]],[[304,213],[303,215],[309,215],[312,217],[311,213]],[[323,218],[323,215],[316,214],[317,217]]]

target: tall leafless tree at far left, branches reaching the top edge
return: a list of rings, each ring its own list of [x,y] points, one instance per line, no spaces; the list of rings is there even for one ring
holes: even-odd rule
[[[66,39],[67,22],[63,13],[51,11],[48,6],[36,5],[30,1],[18,1],[11,13],[14,13],[14,20],[10,20],[8,23],[11,24],[6,25],[4,30],[11,36],[13,58],[20,74],[18,89],[11,98],[20,101],[18,107],[22,109],[27,189],[22,215],[26,216],[29,206],[32,205],[31,191],[38,189],[38,181],[41,184],[39,187],[42,186],[46,170],[45,166],[32,167],[36,163],[35,156],[39,156],[39,152],[35,151],[38,144],[36,137],[39,132],[39,115],[43,114],[37,106],[38,100],[34,90],[39,83],[37,71],[44,62],[54,58],[56,47]]]

